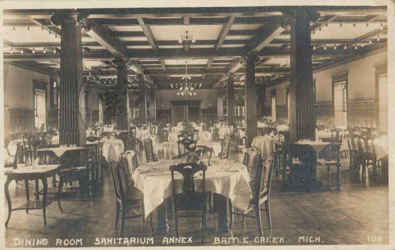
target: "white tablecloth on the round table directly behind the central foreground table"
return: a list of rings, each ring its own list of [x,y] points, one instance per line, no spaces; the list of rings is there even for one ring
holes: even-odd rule
[[[212,156],[218,156],[221,153],[221,144],[217,142],[202,142],[199,141],[197,146],[207,146],[213,149]],[[180,146],[181,153],[184,152],[184,147]],[[158,159],[171,160],[178,155],[178,144],[176,142],[159,143],[154,147],[154,152],[158,155]]]

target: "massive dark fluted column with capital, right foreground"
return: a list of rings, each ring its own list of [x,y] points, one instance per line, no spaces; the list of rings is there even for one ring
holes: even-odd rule
[[[319,18],[312,7],[293,7],[283,25],[291,25],[290,44],[290,140],[316,139],[310,22]]]

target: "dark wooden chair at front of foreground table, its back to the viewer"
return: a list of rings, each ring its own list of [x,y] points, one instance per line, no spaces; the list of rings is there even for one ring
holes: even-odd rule
[[[207,166],[197,163],[180,163],[178,165],[170,166],[171,172],[171,186],[172,186],[172,198],[174,204],[174,221],[176,229],[176,237],[178,237],[178,218],[196,218],[201,217],[201,243],[204,243],[204,232],[206,228],[206,210],[207,210],[207,193],[205,191],[205,173]],[[201,174],[201,190],[196,190],[194,177],[197,172]],[[176,182],[179,181],[174,179],[174,172],[181,173],[183,176],[182,180],[182,191],[176,188]],[[200,178],[199,178],[200,179]],[[197,214],[178,214],[179,211],[201,211]]]

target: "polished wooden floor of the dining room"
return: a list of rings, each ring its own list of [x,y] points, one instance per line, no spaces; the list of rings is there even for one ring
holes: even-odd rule
[[[231,145],[232,149],[233,146]],[[242,155],[232,150],[230,158],[241,160]],[[139,151],[139,161],[145,162],[142,150]],[[257,237],[256,221],[251,218],[246,218],[243,224],[241,218],[236,217],[232,233],[218,234],[214,231],[217,214],[208,213],[205,245],[217,245],[218,241],[221,241],[222,245],[226,243],[230,243],[228,245],[388,244],[388,185],[373,184],[369,178],[366,181],[350,182],[346,159],[342,160],[342,169],[340,192],[282,192],[280,179],[274,177],[270,196],[273,229],[267,229],[266,218],[262,214],[264,238]],[[326,170],[322,170],[317,174],[321,175],[324,171],[326,173]],[[31,194],[34,192],[33,184],[34,182],[30,181]],[[14,208],[25,202],[23,181],[19,184],[13,181],[9,190]],[[40,210],[30,211],[29,214],[25,211],[13,212],[8,227],[5,228],[5,246],[18,247],[15,244],[26,238],[45,238],[48,239],[48,244],[40,247],[55,247],[56,239],[82,239],[83,246],[94,247],[99,246],[95,245],[96,239],[101,241],[101,238],[118,238],[118,230],[114,230],[114,186],[109,171],[105,172],[104,186],[95,197],[67,199],[62,200],[61,203],[64,213],[60,212],[56,203],[46,208],[46,227],[43,225]],[[6,200],[4,200],[4,210],[4,219],[6,219],[8,213]],[[174,237],[172,214],[168,215],[168,220],[170,231],[166,237]],[[182,237],[192,237],[193,245],[200,244],[199,219],[181,218],[180,232]],[[153,237],[154,246],[167,246],[166,238],[151,234],[148,219],[145,222],[141,218],[127,220],[124,237],[136,238],[136,243],[142,238],[149,246],[153,245],[148,239]],[[239,243],[237,238],[229,239],[229,237],[238,237]],[[247,243],[242,243],[243,237],[248,237]],[[378,239],[382,241],[378,242],[380,241]],[[372,242],[373,240],[376,242]],[[129,243],[132,243],[130,246],[134,245],[132,241],[129,239]],[[273,243],[274,241],[277,243]],[[68,241],[61,242],[58,240],[57,246],[68,243]],[[117,244],[107,246],[128,246],[123,243],[122,240],[119,245],[117,240]],[[187,245],[191,244],[183,244],[183,246]],[[143,246],[143,244],[135,244],[135,246]]]

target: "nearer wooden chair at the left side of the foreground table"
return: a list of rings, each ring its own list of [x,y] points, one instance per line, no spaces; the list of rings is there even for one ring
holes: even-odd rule
[[[121,213],[119,237],[123,237],[123,231],[125,228],[126,219],[141,217],[144,222],[145,220],[144,202],[143,202],[144,196],[143,193],[135,187],[132,187],[127,191],[125,191],[122,184],[119,165],[111,161],[110,168],[111,168],[111,176],[113,177],[115,202],[116,202],[114,229],[117,229],[118,227],[119,213]],[[139,214],[136,212],[136,209],[140,210]],[[126,216],[127,212],[129,211],[134,211],[135,214]],[[154,227],[152,224],[152,213],[149,215],[149,218],[150,218],[151,232],[153,233]]]

